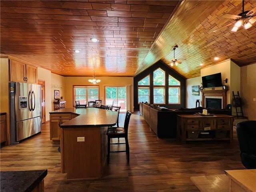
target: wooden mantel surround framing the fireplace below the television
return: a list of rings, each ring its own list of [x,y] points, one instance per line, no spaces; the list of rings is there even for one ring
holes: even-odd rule
[[[222,98],[222,109],[226,109],[227,105],[227,90],[207,90],[202,92],[202,106],[205,107],[205,98],[208,96],[212,97],[221,97]]]

